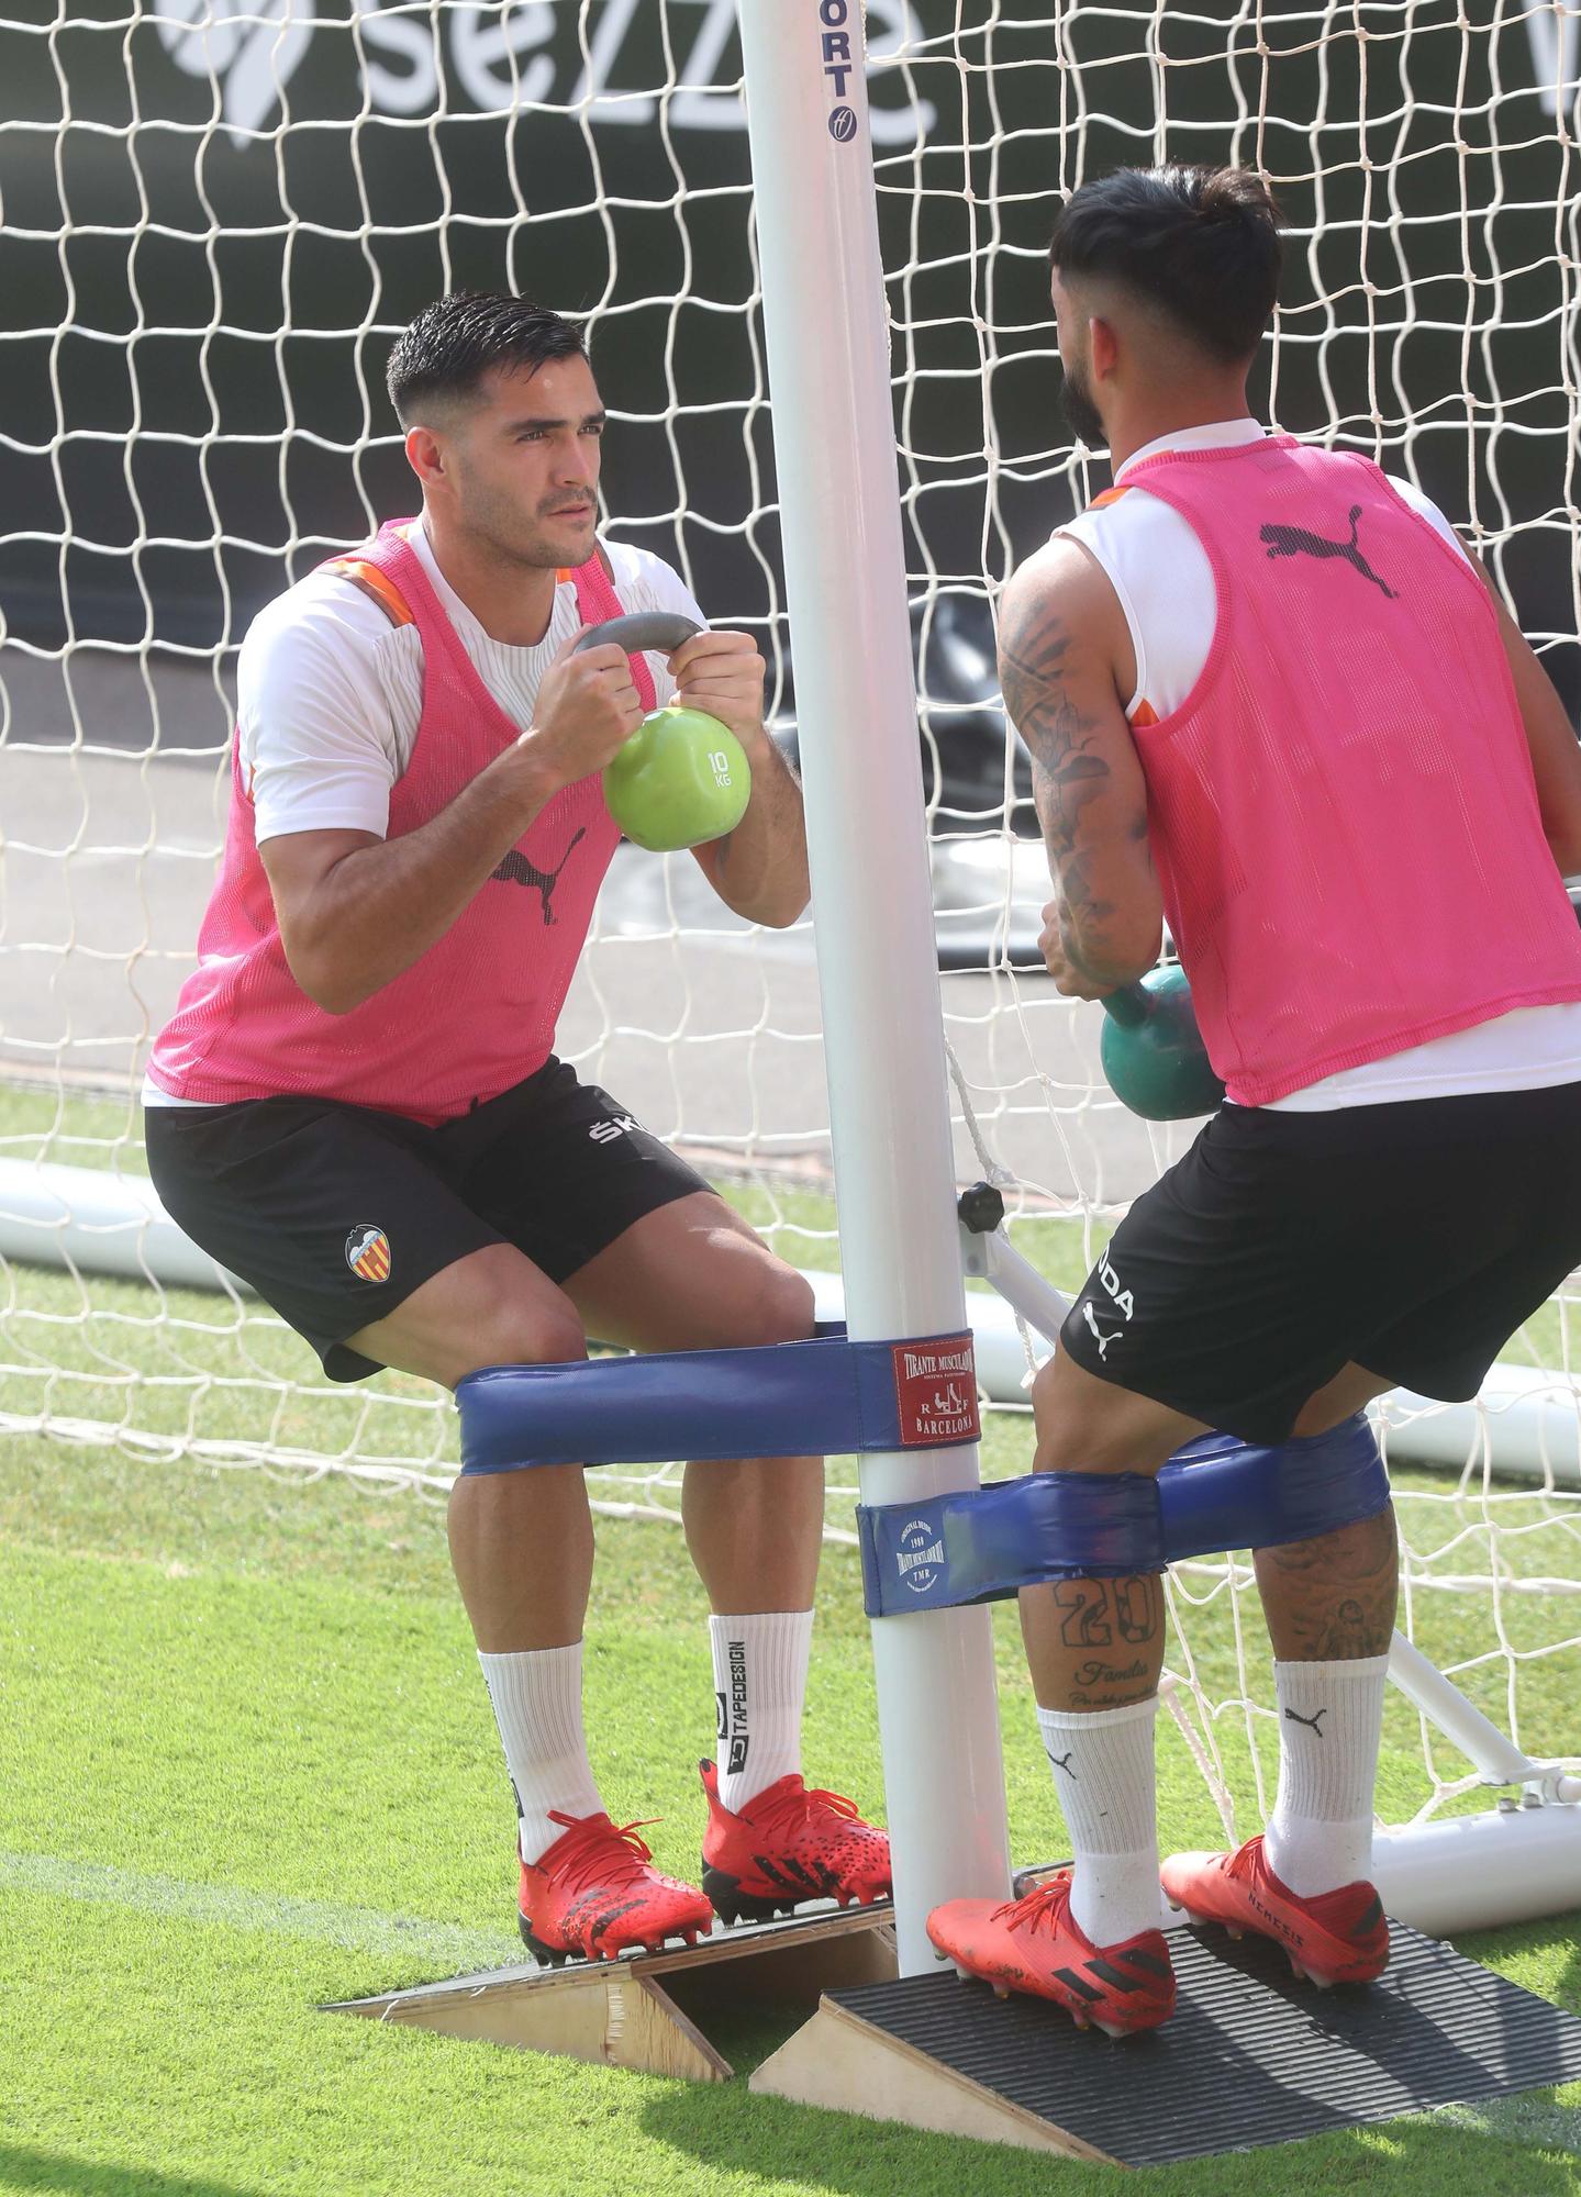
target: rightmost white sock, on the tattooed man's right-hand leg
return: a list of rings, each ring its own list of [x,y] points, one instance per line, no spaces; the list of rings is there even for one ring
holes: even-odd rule
[[[1372,1870],[1372,1782],[1388,1657],[1276,1663],[1280,1782],[1263,1852],[1302,1898]]]

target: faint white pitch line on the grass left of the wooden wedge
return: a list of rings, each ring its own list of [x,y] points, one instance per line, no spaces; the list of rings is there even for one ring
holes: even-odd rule
[[[347,1953],[369,1953],[378,1960],[435,1962],[452,1975],[505,1969],[525,1960],[520,1944],[507,1931],[386,1916],[373,1907],[292,1900],[233,1885],[195,1885],[180,1876],[145,1876],[138,1870],[114,1870],[94,1861],[59,1861],[55,1854],[0,1852],[0,1892],[44,1892],[94,1907],[132,1907],[138,1914],[178,1916],[182,1922],[266,1929],[279,1938],[312,1938],[318,1944],[338,1944]]]

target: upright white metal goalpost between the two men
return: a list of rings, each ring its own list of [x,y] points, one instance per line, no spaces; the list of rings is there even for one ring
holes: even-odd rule
[[[966,1327],[905,600],[861,0],[742,0],[845,1314]],[[867,1503],[977,1485],[977,1450],[867,1457]],[[988,1610],[874,1624],[900,1969],[927,1911],[1006,1898]]]

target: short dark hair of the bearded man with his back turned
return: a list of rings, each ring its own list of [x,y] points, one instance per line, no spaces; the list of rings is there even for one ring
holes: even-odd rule
[[[1274,314],[1282,215],[1249,167],[1122,167],[1074,191],[1050,261],[1124,283],[1201,352],[1249,358]]]

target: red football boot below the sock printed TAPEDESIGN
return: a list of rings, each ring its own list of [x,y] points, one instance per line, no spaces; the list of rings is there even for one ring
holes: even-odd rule
[[[740,1815],[718,1797],[718,1771],[698,1762],[709,1797],[703,1889],[722,1922],[771,1922],[806,1900],[870,1907],[889,1898],[889,1839],[839,1793],[780,1777]]]

